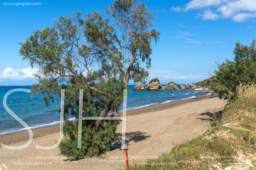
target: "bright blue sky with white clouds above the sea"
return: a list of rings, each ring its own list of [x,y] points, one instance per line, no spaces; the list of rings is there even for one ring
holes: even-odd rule
[[[52,21],[65,13],[98,11],[113,0],[105,1],[26,1],[41,5],[0,4],[0,85],[36,83],[27,61],[19,56],[19,42],[25,42],[33,30],[52,27]],[[142,1],[155,13],[154,28],[161,32],[157,45],[152,43],[152,66],[148,81],[159,78],[161,84],[193,83],[209,78],[225,58],[233,60],[235,43],[249,45],[255,38],[255,0]],[[25,2],[19,2],[25,3]],[[129,84],[133,84],[130,82]]]

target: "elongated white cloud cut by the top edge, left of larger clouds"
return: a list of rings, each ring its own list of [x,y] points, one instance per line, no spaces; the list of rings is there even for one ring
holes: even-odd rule
[[[184,11],[221,4],[221,0],[193,0],[186,4]]]

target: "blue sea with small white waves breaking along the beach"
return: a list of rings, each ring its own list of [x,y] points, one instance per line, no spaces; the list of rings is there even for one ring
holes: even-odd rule
[[[165,90],[165,91],[135,91],[134,85],[128,85],[131,90],[127,94],[126,110],[134,110],[142,107],[165,104],[178,100],[195,98],[196,90]],[[3,98],[9,91],[16,88],[31,89],[31,86],[0,86],[0,135],[25,130],[4,108]],[[18,117],[20,117],[31,129],[57,125],[60,123],[60,97],[54,97],[54,103],[49,102],[49,108],[44,104],[40,95],[33,97],[27,92],[13,92],[9,94],[6,104]],[[120,112],[123,105],[120,105]],[[75,121],[74,117],[69,120]]]

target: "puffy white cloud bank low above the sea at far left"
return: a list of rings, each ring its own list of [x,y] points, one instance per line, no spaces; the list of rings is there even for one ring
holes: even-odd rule
[[[20,70],[12,69],[11,67],[5,68],[1,74],[1,79],[8,79],[8,80],[25,80],[25,79],[32,79],[35,78],[33,76],[36,73],[38,68],[25,68]]]

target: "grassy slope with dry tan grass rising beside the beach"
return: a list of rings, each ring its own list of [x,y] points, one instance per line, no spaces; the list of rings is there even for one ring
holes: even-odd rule
[[[231,169],[256,169],[256,85],[240,85],[236,93],[236,100],[226,105],[222,113],[212,114],[212,127],[204,135],[175,146],[171,152],[159,155],[158,159],[148,160],[144,165],[137,163],[130,166],[130,169],[217,169],[213,164],[218,164],[222,169],[230,164],[236,164]],[[230,124],[223,126],[226,123]],[[155,162],[165,165],[159,166]],[[168,163],[171,165],[166,165]]]

